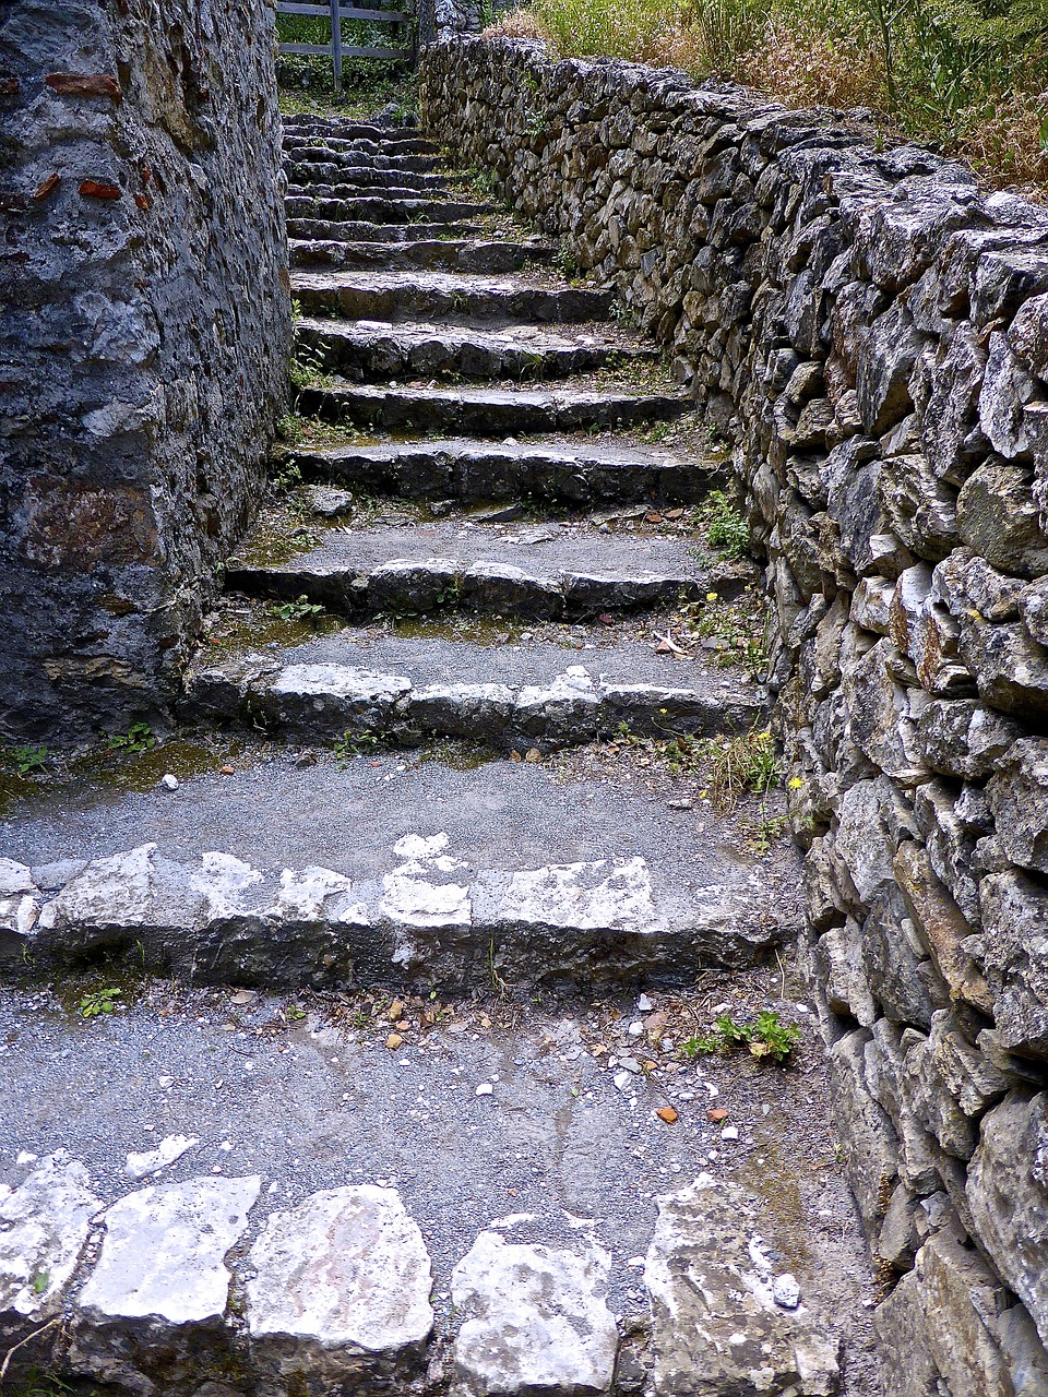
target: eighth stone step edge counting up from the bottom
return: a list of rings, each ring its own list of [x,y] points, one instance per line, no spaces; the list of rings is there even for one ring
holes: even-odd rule
[[[447,271],[296,271],[292,295],[313,314],[430,324],[578,324],[606,320],[615,306],[615,292],[608,289]]]

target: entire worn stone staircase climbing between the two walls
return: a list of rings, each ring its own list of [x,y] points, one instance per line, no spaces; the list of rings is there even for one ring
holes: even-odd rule
[[[718,460],[658,446],[651,345],[430,142],[303,116],[285,152],[313,437],[187,678],[205,736],[4,820],[0,1362],[859,1397],[813,1027],[777,1085],[682,1053],[805,1011],[766,968],[794,865],[612,760],[767,719],[672,640],[753,578],[696,532]]]

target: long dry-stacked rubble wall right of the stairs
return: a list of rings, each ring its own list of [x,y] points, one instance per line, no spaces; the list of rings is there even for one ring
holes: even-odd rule
[[[1048,1391],[1048,214],[739,88],[430,47],[423,120],[735,443],[893,1397]]]

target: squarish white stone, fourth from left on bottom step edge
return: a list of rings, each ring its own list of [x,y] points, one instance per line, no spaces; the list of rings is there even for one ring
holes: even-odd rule
[[[451,1275],[463,1326],[456,1389],[475,1397],[608,1391],[618,1329],[604,1295],[611,1257],[482,1232]]]

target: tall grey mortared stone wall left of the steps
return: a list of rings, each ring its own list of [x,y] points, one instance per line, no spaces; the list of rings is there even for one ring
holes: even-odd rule
[[[285,411],[270,3],[0,8],[0,732],[162,708]]]

